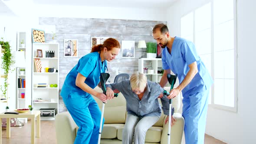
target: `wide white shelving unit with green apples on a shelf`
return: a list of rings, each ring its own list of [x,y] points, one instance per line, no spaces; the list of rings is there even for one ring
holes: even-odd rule
[[[42,49],[43,57],[36,57],[37,49]],[[46,51],[54,51],[54,58],[46,58]],[[41,61],[41,72],[36,71],[35,59]],[[35,110],[56,108],[57,114],[59,108],[59,72],[45,72],[45,68],[55,68],[59,71],[59,44],[33,43],[32,63],[32,107]],[[38,83],[46,83],[46,87],[38,88]],[[51,84],[57,84],[58,87],[49,87]],[[35,101],[38,99],[42,99],[42,102]],[[44,119],[44,117],[41,118]]]

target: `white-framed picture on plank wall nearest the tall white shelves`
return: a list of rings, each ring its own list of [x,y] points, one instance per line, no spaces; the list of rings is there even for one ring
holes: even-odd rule
[[[78,39],[64,39],[64,57],[78,56]]]

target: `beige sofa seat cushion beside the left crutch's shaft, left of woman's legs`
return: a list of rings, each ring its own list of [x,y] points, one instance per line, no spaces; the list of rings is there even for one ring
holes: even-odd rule
[[[125,124],[104,124],[101,138],[116,138],[118,128],[123,128]]]

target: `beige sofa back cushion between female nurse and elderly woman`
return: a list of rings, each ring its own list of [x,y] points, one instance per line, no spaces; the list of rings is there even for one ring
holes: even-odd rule
[[[102,89],[99,87],[95,87],[94,90],[97,92],[102,92]],[[95,96],[93,96],[93,98],[98,103],[99,108],[102,109],[102,101]],[[126,101],[125,97],[120,92],[117,98],[115,97],[114,99],[108,100],[107,103],[105,103],[104,124],[125,124],[125,116]]]

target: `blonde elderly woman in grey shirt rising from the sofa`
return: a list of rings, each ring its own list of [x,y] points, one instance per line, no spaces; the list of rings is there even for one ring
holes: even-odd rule
[[[147,81],[147,77],[140,72],[132,74],[130,80],[123,80],[106,87],[108,99],[113,98],[113,90],[121,92],[126,99],[128,115],[122,133],[122,143],[132,144],[134,141],[134,144],[144,144],[148,128],[161,116],[158,96],[164,89],[158,83]],[[169,115],[169,99],[162,97],[161,102],[164,115]],[[167,121],[168,117],[165,123]]]

